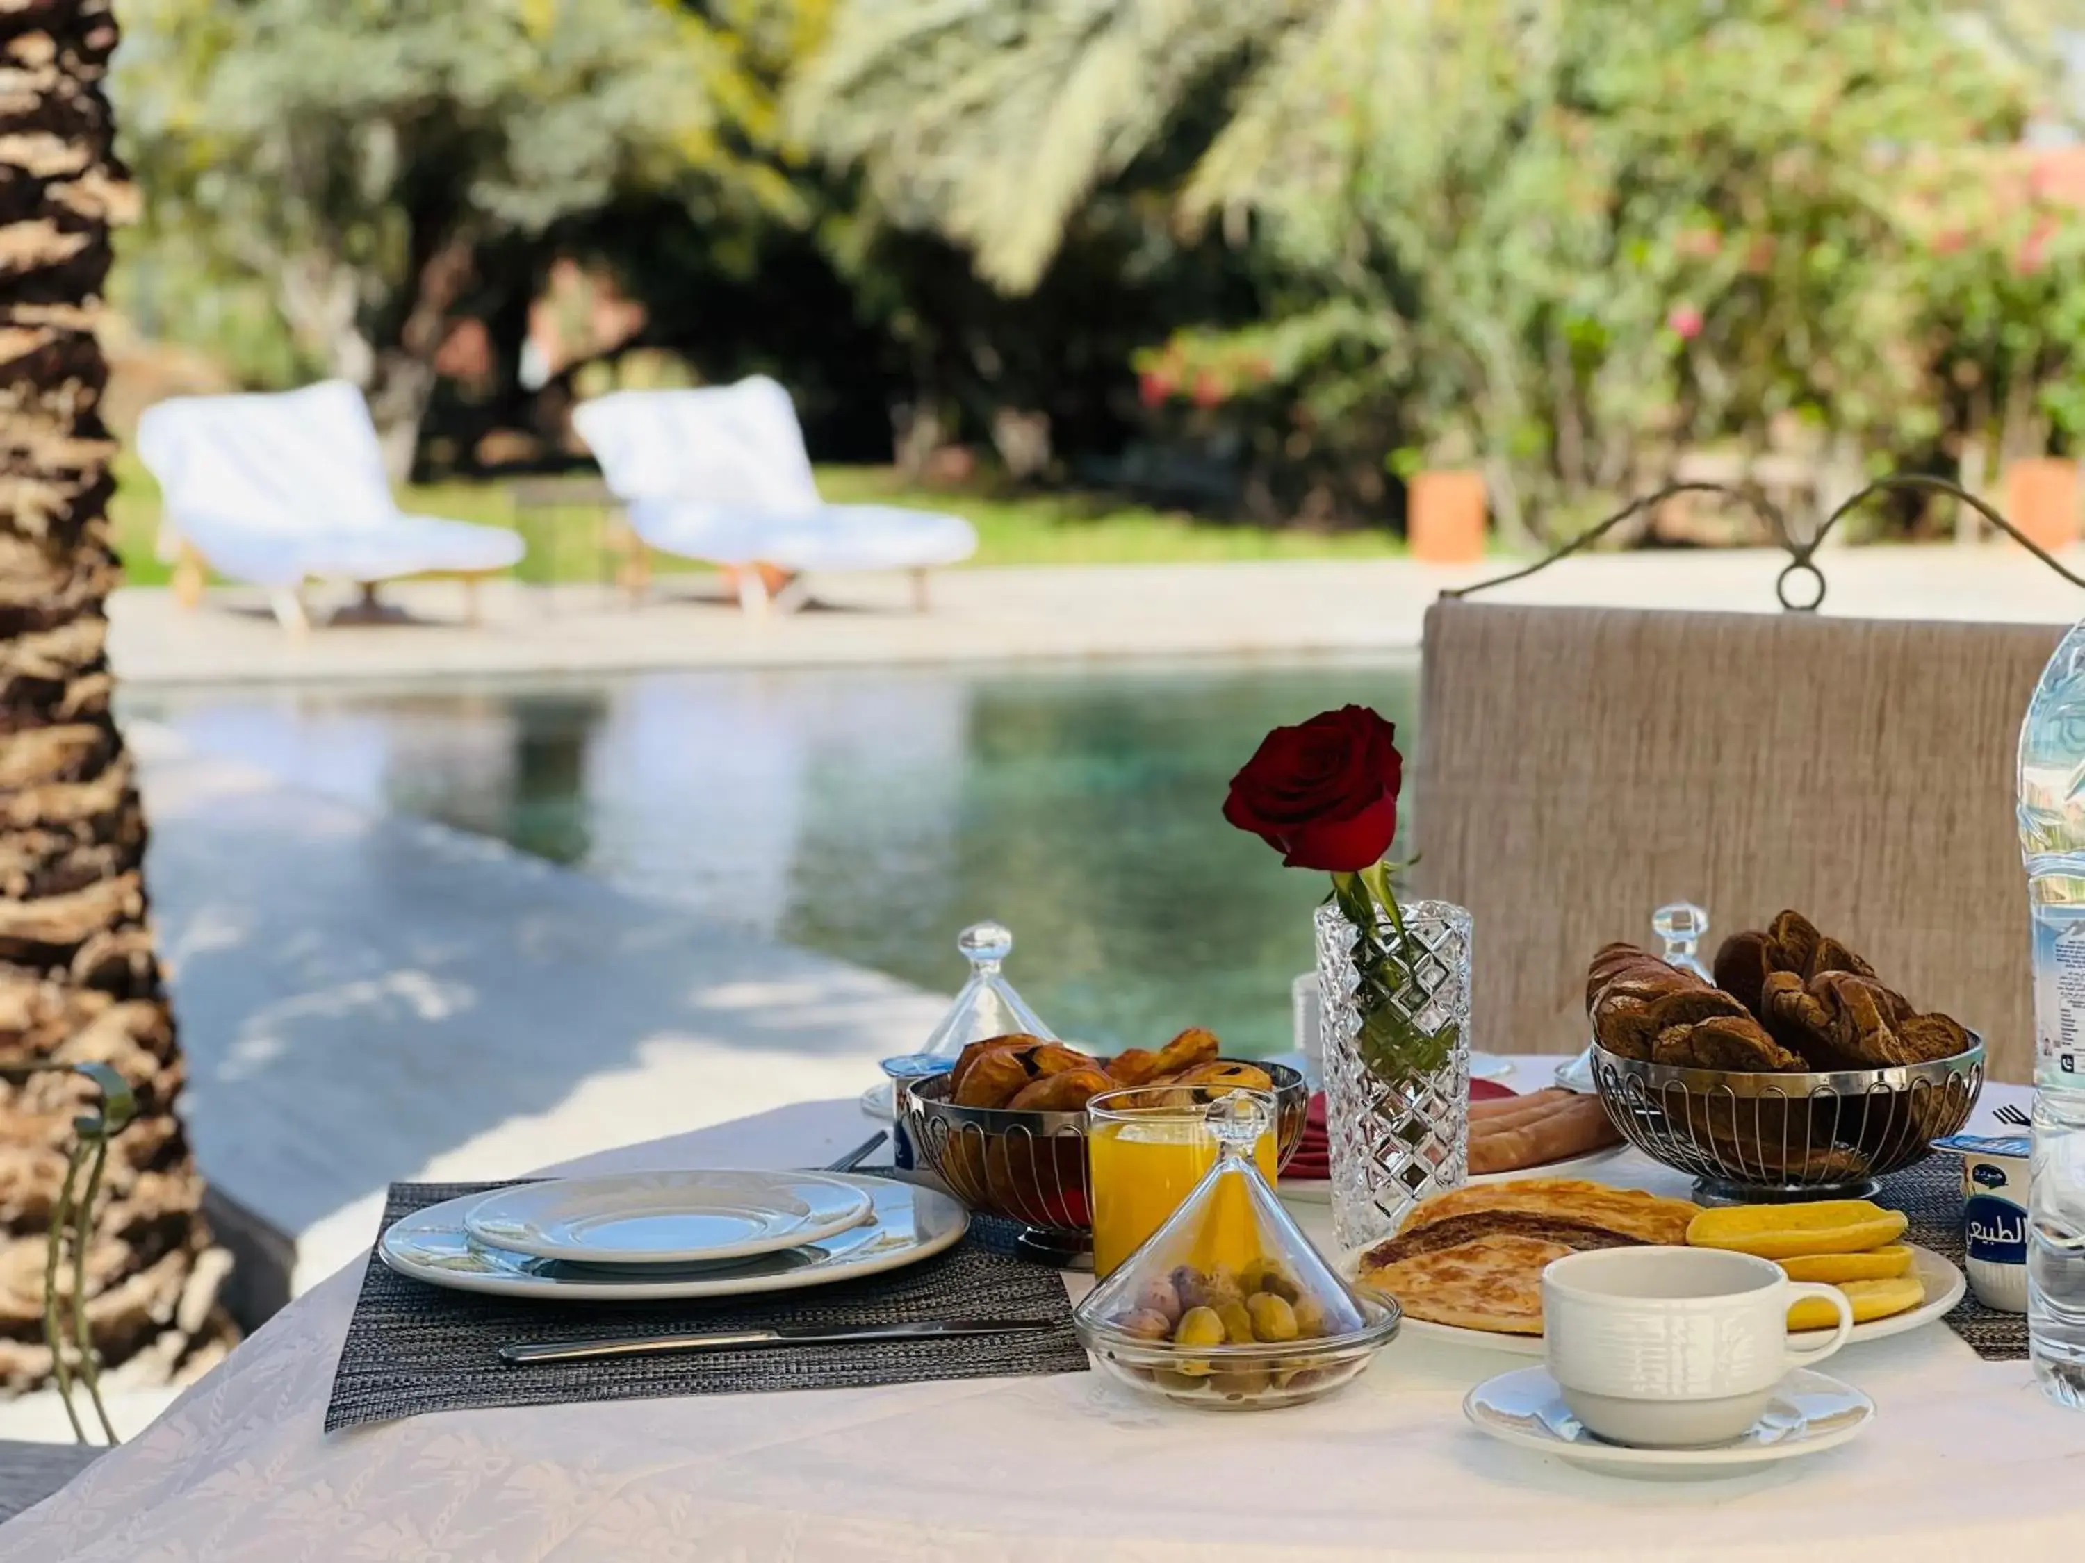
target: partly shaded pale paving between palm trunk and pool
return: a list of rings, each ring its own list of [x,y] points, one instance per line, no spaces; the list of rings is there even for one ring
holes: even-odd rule
[[[196,1157],[292,1238],[298,1292],[369,1244],[394,1177],[851,1096],[947,1002],[165,729],[133,744]]]

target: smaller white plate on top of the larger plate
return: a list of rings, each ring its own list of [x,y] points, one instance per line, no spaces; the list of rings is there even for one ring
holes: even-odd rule
[[[715,1265],[861,1225],[869,1196],[832,1173],[673,1169],[546,1177],[463,1213],[484,1244],[573,1265]]]

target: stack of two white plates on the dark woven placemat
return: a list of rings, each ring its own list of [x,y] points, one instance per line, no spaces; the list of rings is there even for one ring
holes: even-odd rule
[[[432,1286],[569,1302],[742,1296],[911,1265],[970,1215],[857,1173],[642,1171],[555,1177],[432,1205],[377,1255]]]

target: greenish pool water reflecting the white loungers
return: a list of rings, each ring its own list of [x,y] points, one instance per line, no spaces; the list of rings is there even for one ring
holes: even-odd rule
[[[953,990],[959,927],[1063,1036],[1289,1046],[1324,877],[1224,823],[1261,734],[1416,663],[659,673],[557,686],[138,692],[125,709],[306,788],[423,815]]]

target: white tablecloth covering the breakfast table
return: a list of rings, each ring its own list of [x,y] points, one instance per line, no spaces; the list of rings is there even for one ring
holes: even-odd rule
[[[1522,1061],[1541,1084],[1553,1061]],[[1987,1094],[1981,1123],[1997,1100]],[[863,1134],[817,1102],[590,1169],[807,1165]],[[1637,1159],[1612,1182],[1670,1188]],[[2085,1417],[1945,1325],[1829,1371],[1881,1407],[1845,1448],[1716,1482],[1626,1482],[1462,1419],[1485,1350],[1395,1342],[1347,1392],[1176,1411],[1097,1373],[319,1423],[361,1267],[294,1302],[125,1448],[0,1528],[6,1563],[440,1559],[1876,1559],[2058,1557],[2085,1538]]]

